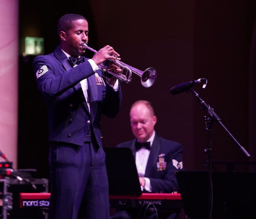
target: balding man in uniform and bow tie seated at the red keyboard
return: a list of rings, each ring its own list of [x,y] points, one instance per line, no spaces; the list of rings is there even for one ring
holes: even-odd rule
[[[156,122],[151,103],[136,101],[130,110],[135,139],[117,147],[131,148],[143,192],[173,193],[178,191],[175,171],[183,169],[182,145],[160,137],[154,130]]]

